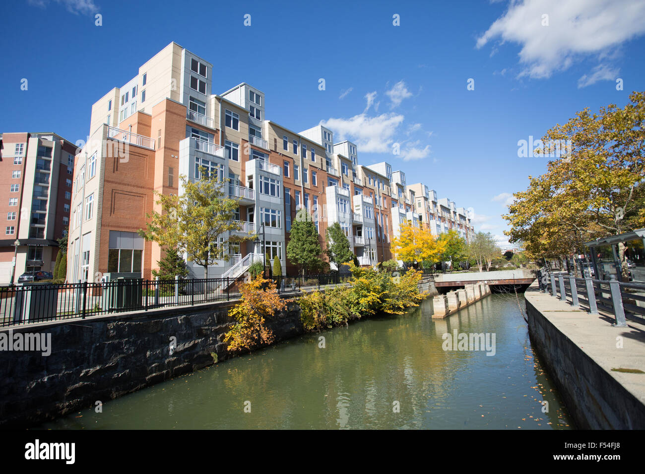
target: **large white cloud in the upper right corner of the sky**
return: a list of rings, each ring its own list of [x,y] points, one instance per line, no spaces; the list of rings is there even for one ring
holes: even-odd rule
[[[542,15],[548,26],[542,26]],[[519,76],[550,77],[588,55],[605,57],[629,39],[645,33],[645,2],[631,0],[522,0],[477,39],[482,48],[493,39],[522,46]],[[494,48],[495,46],[493,46]]]

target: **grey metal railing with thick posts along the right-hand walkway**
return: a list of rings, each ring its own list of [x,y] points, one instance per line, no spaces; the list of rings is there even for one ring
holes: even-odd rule
[[[539,270],[537,277],[544,293],[584,308],[590,314],[599,314],[600,310],[613,315],[615,326],[627,326],[626,316],[645,317],[645,284],[619,282],[614,274],[609,280],[595,280],[579,278],[573,273]]]

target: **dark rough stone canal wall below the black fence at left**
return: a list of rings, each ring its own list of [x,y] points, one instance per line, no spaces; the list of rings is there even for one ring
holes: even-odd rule
[[[0,428],[37,426],[230,357],[223,338],[233,304],[15,328],[50,334],[51,353],[0,351]],[[299,306],[290,302],[272,330],[276,342],[304,333]]]

